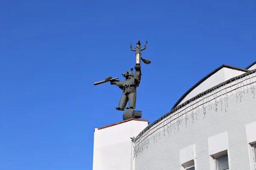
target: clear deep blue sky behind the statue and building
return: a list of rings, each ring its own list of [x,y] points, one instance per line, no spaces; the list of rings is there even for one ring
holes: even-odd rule
[[[154,122],[222,64],[256,60],[255,0],[1,0],[0,170],[91,170],[93,130],[122,120],[120,77],[142,56]]]

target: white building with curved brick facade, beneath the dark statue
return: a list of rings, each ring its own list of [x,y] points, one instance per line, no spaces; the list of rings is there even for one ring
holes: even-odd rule
[[[135,139],[130,139],[130,131],[117,137],[127,142],[126,149],[131,152],[114,153],[120,143],[106,142],[102,137],[118,133],[118,129],[131,129],[129,125],[115,125],[116,130],[102,131],[100,135],[95,131],[93,170],[255,170],[255,69],[256,62],[246,69],[221,65],[212,71],[192,86],[169,113],[148,126],[146,121],[140,124],[144,129],[133,134]],[[108,156],[98,152],[99,141],[111,145]],[[130,156],[132,160],[122,161],[130,166],[110,165],[112,153],[120,161]]]

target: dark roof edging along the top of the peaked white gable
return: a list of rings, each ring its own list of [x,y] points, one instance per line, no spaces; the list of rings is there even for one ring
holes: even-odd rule
[[[176,106],[192,91],[194,90],[198,85],[200,85],[202,82],[204,82],[206,79],[208,79],[209,77],[211,77],[213,74],[215,74],[217,71],[219,71],[221,68],[230,68],[233,70],[238,70],[238,71],[244,71],[244,72],[248,72],[250,70],[244,69],[244,68],[239,68],[239,67],[235,67],[232,65],[226,65],[223,64],[221,66],[219,66],[218,68],[216,68],[214,71],[210,72],[209,74],[207,74],[204,78],[202,78],[201,80],[199,80],[197,83],[195,83],[195,85],[193,85],[191,88],[189,88],[188,91],[186,91],[181,97],[180,99],[178,99],[178,101],[175,103],[175,105],[172,107],[176,108]]]

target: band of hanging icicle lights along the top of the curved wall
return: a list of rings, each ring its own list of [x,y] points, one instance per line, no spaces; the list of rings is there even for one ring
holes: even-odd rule
[[[227,112],[230,95],[236,96],[236,102],[242,102],[243,95],[246,93],[253,94],[252,96],[255,98],[255,83],[256,69],[229,79],[181,103],[146,127],[133,140],[134,156],[138,156],[147,149],[151,142],[157,142],[157,139],[161,138],[160,132],[163,133],[163,136],[169,136],[179,130],[181,123],[186,124],[189,120],[194,123],[200,109],[203,109],[203,116],[205,117],[209,110]]]

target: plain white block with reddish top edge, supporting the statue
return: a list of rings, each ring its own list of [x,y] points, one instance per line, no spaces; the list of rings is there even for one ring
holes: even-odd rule
[[[93,170],[133,170],[131,137],[136,137],[147,121],[130,120],[121,124],[95,128]]]

